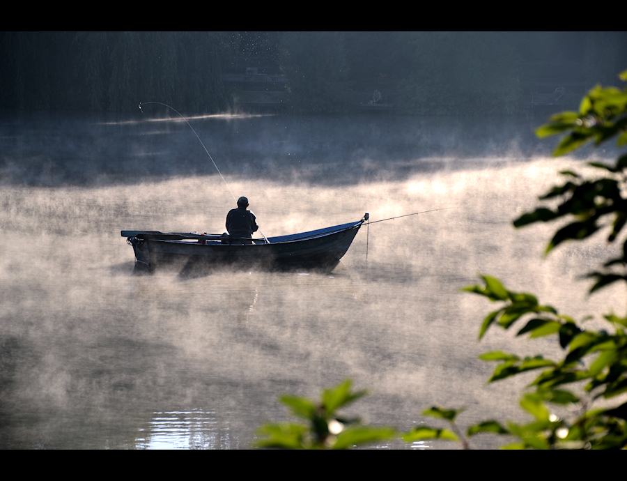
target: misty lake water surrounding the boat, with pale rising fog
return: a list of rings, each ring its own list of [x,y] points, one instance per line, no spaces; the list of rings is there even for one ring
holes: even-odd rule
[[[550,158],[555,140],[532,132],[543,119],[189,122],[265,236],[450,209],[362,227],[330,275],[134,276],[122,229],[222,233],[235,206],[194,132],[156,107],[2,112],[1,448],[250,448],[288,419],[279,395],[346,378],[371,391],[346,413],[375,425],[410,429],[434,404],[465,406],[463,426],[522,420],[529,379],[486,385],[494,365],[477,356],[557,356],[556,343],[477,342],[493,306],[460,287],[485,273],[575,319],[624,309],[620,289],[587,297],[578,279],[613,248],[601,237],[543,259],[555,226],[511,225],[557,171],[583,168]]]

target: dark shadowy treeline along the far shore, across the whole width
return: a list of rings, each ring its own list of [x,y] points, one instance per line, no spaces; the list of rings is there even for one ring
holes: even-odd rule
[[[624,32],[2,32],[0,107],[233,108],[224,74],[288,79],[286,112],[350,112],[382,93],[403,114],[520,114],[627,68]]]

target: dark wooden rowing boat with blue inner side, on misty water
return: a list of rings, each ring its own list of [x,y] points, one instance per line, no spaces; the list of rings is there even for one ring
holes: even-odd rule
[[[366,213],[357,222],[269,238],[158,231],[122,231],[122,236],[133,246],[136,273],[172,266],[182,269],[181,273],[225,266],[330,272],[368,217]]]

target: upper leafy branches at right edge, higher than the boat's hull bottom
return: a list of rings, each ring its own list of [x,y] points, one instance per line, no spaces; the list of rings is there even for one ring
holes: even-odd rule
[[[627,80],[627,70],[619,75]],[[617,146],[627,145],[627,88],[596,86],[582,99],[579,112],[562,112],[550,117],[549,123],[536,129],[539,137],[568,132],[553,155],[565,155],[588,142],[601,145],[617,136]],[[552,222],[566,217],[570,222],[555,232],[546,253],[568,240],[581,241],[602,228],[609,228],[607,241],[613,243],[627,222],[627,154],[620,155],[614,165],[589,162],[600,171],[600,178],[587,179],[573,171],[563,171],[568,178],[540,197],[541,201],[559,201],[557,208],[540,206],[514,220],[516,227],[534,222]],[[627,240],[622,255],[603,264],[603,270],[588,274],[596,280],[590,291],[617,281],[627,282]],[[617,271],[616,269],[619,269]]]

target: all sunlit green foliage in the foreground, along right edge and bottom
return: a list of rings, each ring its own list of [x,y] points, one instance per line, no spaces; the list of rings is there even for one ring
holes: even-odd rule
[[[626,80],[627,70],[620,77]],[[579,112],[556,114],[550,118],[550,123],[536,130],[540,137],[562,132],[568,134],[557,146],[555,155],[569,153],[591,140],[600,145],[615,136],[619,147],[627,146],[627,89],[597,86],[582,100]],[[562,172],[568,180],[540,197],[541,201],[552,202],[557,206],[541,206],[513,222],[516,227],[523,227],[535,222],[566,219],[568,223],[552,237],[547,253],[565,241],[582,241],[603,229],[609,231],[609,243],[621,238],[627,223],[627,198],[624,197],[627,194],[627,154],[620,155],[614,165],[599,162],[591,162],[589,165],[600,172],[597,178],[585,178],[573,171]],[[595,280],[590,292],[614,282],[627,282],[626,266],[627,239],[624,240],[619,257],[608,259],[601,270],[589,273],[589,277]],[[514,441],[503,448],[627,448],[627,402],[624,402],[627,393],[627,315],[620,316],[613,312],[605,314],[603,319],[607,329],[586,329],[583,323],[589,317],[577,322],[571,316],[557,312],[555,307],[542,305],[531,293],[509,291],[500,280],[488,275],[482,275],[481,279],[482,284],[465,287],[463,291],[486,297],[498,306],[483,319],[479,339],[493,326],[506,330],[517,326],[518,336],[555,336],[564,353],[559,360],[543,356],[521,358],[503,351],[491,351],[479,356],[482,360],[497,362],[488,383],[541,370],[520,398],[520,406],[532,415],[532,420],[525,424],[506,422],[504,425],[496,420],[488,420],[467,428],[463,433],[456,425],[456,418],[463,409],[433,406],[423,414],[446,420],[450,429],[421,425],[401,434],[401,437],[407,442],[426,439],[457,441],[464,448],[469,448],[472,436],[488,432],[513,438]],[[335,390],[325,390],[325,395],[330,396],[330,393],[341,389],[346,391],[347,383]],[[334,420],[332,414],[327,414],[330,412],[328,406],[336,408],[339,404],[324,404],[325,395],[318,411],[306,400],[295,402],[295,398],[284,397],[284,402],[288,401],[286,404],[293,407],[295,414],[311,420],[309,431],[304,427],[299,432],[307,442],[303,443],[298,438],[298,443],[293,443],[293,446],[287,442],[272,444],[270,441],[277,439],[279,425],[270,425],[263,429],[265,434],[274,435],[274,438],[270,436],[265,445],[282,448],[306,445],[327,447],[330,438],[328,420]],[[350,402],[361,395],[344,395],[339,399]],[[600,402],[603,406],[598,406]],[[299,403],[309,407],[296,409]],[[568,407],[571,409],[564,409]],[[559,409],[564,417],[552,413],[552,409]],[[316,424],[318,418],[325,420],[320,423],[321,427]],[[295,427],[291,429],[293,432],[296,430]],[[364,440],[376,440],[376,428],[368,429],[373,429],[373,436]],[[386,432],[388,434],[391,436],[393,432]],[[312,436],[314,441],[311,441]],[[347,448],[351,444],[357,445],[344,442],[340,447]]]

